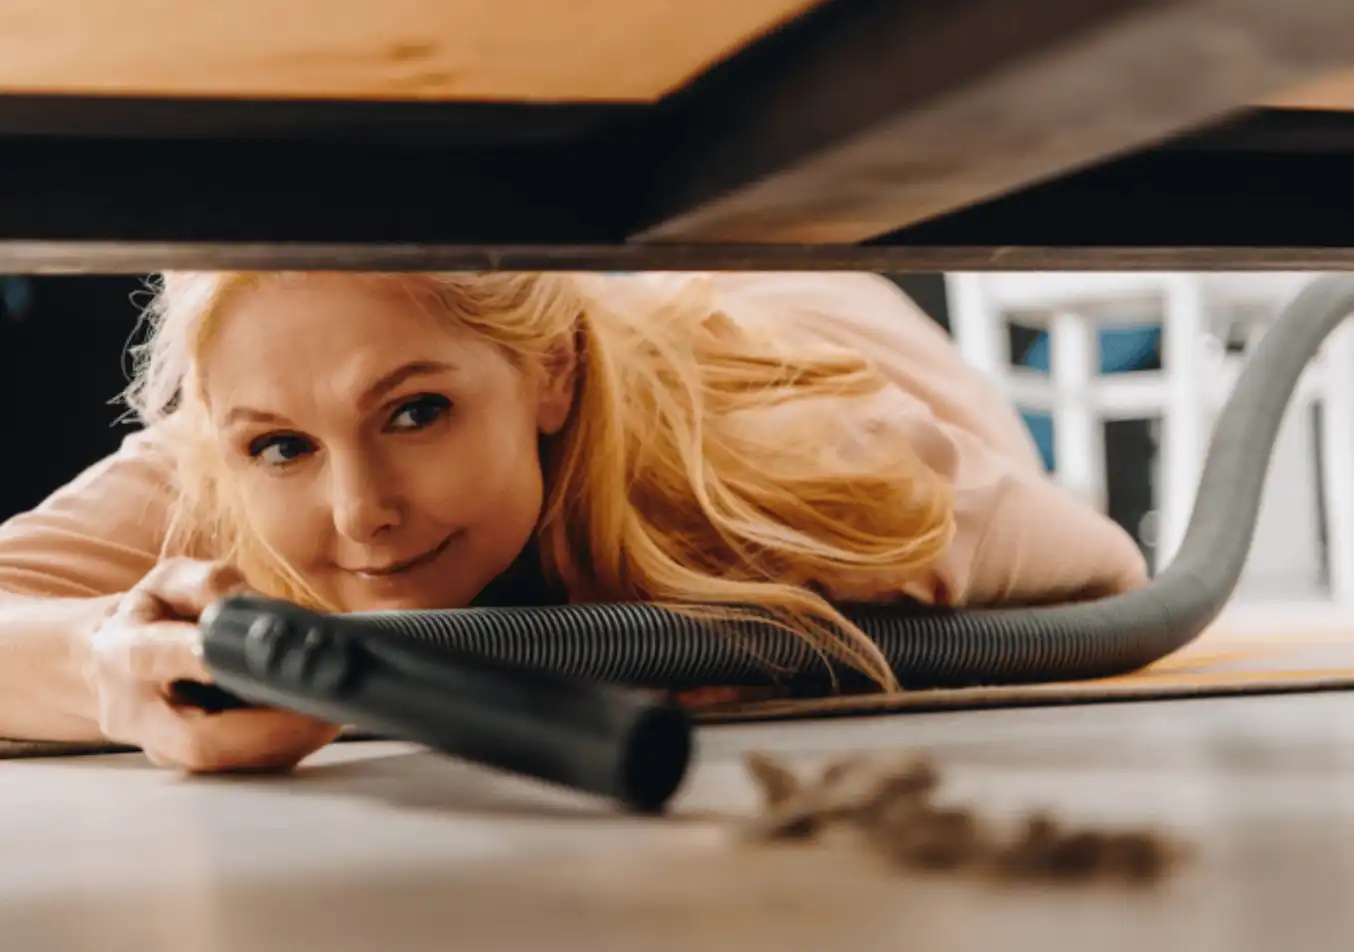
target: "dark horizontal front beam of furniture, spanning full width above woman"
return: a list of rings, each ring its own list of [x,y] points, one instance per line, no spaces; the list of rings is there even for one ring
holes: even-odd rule
[[[1273,115],[1248,139],[1232,129],[1246,148],[1216,133],[1209,149],[1147,152],[868,245],[627,242],[627,210],[659,192],[627,181],[647,167],[607,141],[580,153],[15,135],[0,148],[0,274],[1354,268],[1349,149],[1265,154]]]

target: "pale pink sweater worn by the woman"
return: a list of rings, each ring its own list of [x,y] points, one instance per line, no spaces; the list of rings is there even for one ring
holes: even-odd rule
[[[1145,580],[1132,539],[1044,475],[1013,408],[890,282],[858,274],[722,274],[712,280],[735,320],[776,320],[787,340],[803,334],[854,348],[888,376],[888,425],[956,490],[956,538],[923,588],[956,604],[1039,603]],[[160,557],[169,485],[162,436],[154,429],[127,436],[112,456],[0,524],[0,590],[96,596],[129,589]],[[888,588],[888,580],[861,580],[835,594],[883,596]]]

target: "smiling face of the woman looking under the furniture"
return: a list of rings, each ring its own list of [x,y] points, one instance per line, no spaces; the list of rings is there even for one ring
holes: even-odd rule
[[[502,573],[573,393],[571,364],[519,367],[344,276],[242,293],[202,374],[250,529],[345,611],[463,607]]]

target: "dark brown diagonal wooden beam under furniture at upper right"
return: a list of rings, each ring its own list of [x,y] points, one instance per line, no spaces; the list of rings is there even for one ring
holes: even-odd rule
[[[1350,0],[1020,11],[844,4],[792,54],[692,110],[632,237],[868,240],[1219,119],[1346,65],[1354,35]]]

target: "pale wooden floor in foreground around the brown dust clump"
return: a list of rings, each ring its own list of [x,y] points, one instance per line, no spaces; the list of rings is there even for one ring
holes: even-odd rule
[[[1159,887],[884,875],[857,852],[734,848],[750,746],[808,765],[922,748],[992,811],[1159,823]],[[284,779],[184,780],[135,756],[0,764],[7,949],[1347,948],[1354,693],[711,729],[668,821],[352,743]]]

